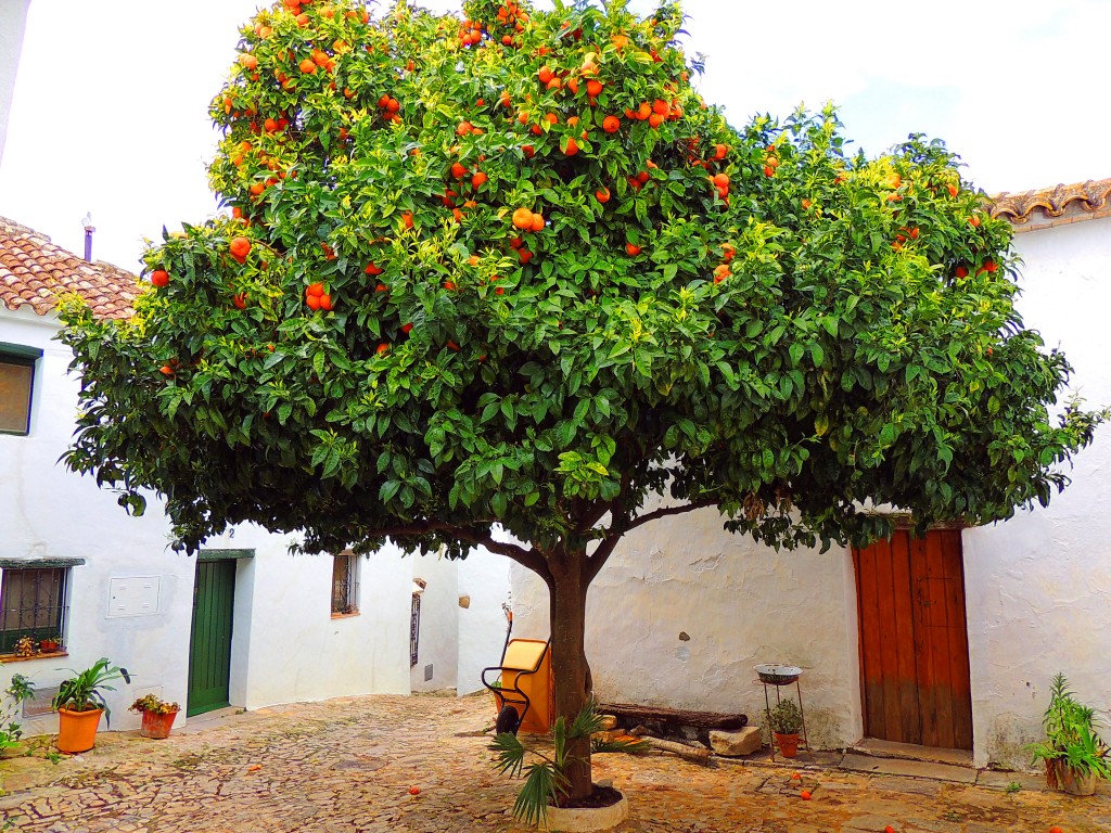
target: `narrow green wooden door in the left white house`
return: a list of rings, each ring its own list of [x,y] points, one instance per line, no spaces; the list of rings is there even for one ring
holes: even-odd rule
[[[186,714],[229,705],[231,614],[236,600],[236,561],[198,561],[193,585],[193,624],[189,640],[189,694]]]

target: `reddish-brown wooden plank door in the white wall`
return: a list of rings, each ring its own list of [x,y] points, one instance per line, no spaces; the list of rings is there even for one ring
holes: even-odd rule
[[[972,749],[961,533],[898,531],[852,554],[864,734]]]

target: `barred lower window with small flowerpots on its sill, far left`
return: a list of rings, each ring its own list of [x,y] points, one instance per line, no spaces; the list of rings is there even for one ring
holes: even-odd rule
[[[0,572],[0,655],[30,658],[64,651],[68,568]]]

